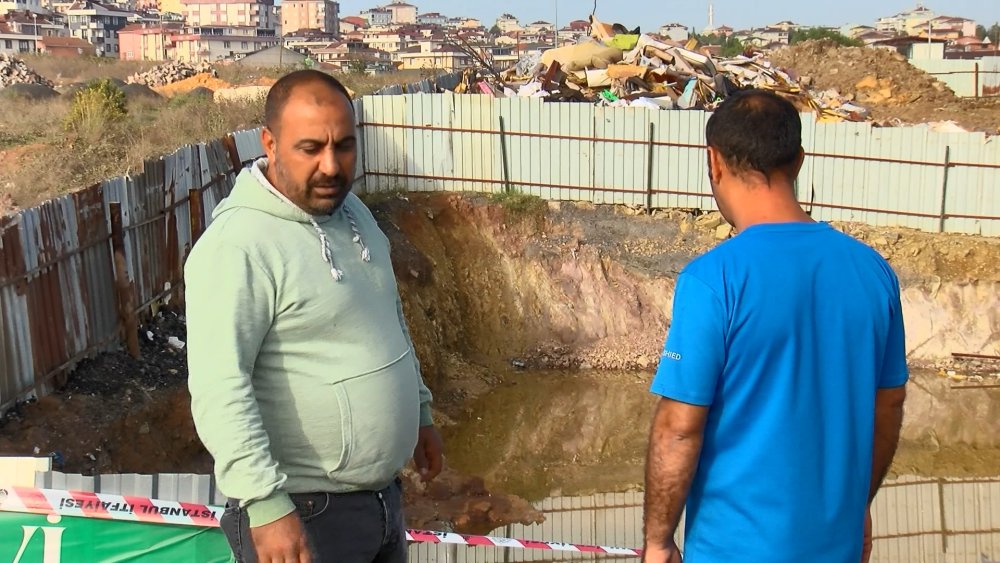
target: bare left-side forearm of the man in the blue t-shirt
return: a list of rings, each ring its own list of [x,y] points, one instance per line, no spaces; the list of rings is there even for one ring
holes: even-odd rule
[[[691,480],[701,454],[702,434],[671,427],[660,408],[650,432],[646,458],[645,543],[666,547],[673,542]]]

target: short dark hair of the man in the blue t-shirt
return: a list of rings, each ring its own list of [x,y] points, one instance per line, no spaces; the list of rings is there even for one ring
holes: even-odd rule
[[[734,172],[770,175],[798,160],[802,120],[795,106],[774,92],[744,90],[719,105],[705,138]]]

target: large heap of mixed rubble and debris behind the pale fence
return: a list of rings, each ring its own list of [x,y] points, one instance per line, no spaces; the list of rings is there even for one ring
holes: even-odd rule
[[[707,109],[746,88],[766,88],[821,121],[865,121],[868,110],[833,91],[810,92],[762,53],[719,59],[696,40],[678,43],[625,31],[591,16],[591,37],[575,45],[528,56],[503,73],[489,68],[468,72],[456,92],[496,97],[539,97],[611,107]]]

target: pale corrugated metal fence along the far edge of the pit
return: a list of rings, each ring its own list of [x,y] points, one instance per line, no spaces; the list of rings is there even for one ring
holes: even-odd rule
[[[369,191],[523,191],[550,200],[714,208],[710,114],[451,93],[365,99]],[[821,220],[1000,235],[1000,139],[803,114],[798,195]]]

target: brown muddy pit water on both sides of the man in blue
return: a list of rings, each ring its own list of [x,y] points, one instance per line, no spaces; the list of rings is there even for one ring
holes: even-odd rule
[[[515,371],[445,429],[449,465],[538,500],[641,486],[651,373]],[[1000,474],[1000,391],[915,370],[894,475]]]

